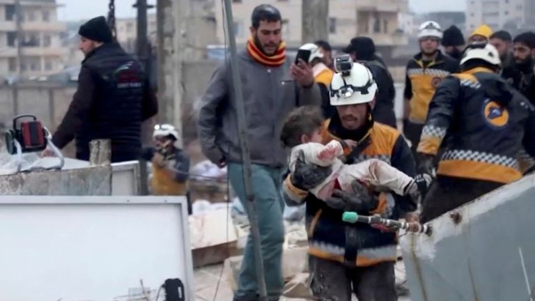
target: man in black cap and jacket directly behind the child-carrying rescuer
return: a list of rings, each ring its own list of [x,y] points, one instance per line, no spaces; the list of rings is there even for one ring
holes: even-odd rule
[[[373,78],[379,87],[377,101],[373,107],[375,121],[396,128],[396,114],[394,113],[394,98],[396,89],[394,79],[390,75],[385,63],[375,54],[375,43],[368,37],[351,39],[350,45],[344,49],[353,61],[363,63],[373,73]]]

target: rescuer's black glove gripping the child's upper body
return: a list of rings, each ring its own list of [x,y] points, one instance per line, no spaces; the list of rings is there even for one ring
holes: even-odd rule
[[[332,172],[332,167],[320,167],[304,162],[304,153],[300,151],[295,161],[295,169],[290,176],[292,184],[301,190],[311,190],[320,185]]]

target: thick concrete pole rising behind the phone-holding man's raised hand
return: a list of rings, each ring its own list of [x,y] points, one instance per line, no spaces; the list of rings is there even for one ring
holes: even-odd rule
[[[302,43],[329,40],[329,1],[302,0]]]

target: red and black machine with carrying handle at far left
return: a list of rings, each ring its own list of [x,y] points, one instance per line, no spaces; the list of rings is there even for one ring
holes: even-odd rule
[[[11,155],[17,155],[17,171],[22,171],[22,154],[37,153],[51,148],[58,157],[59,163],[52,167],[30,167],[24,171],[39,169],[61,169],[65,160],[61,151],[52,143],[52,134],[45,128],[36,116],[19,115],[13,118],[13,128],[6,132],[6,148]]]

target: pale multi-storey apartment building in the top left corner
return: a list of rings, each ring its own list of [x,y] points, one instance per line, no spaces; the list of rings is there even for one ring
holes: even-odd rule
[[[63,69],[66,52],[60,36],[65,24],[57,19],[57,7],[55,0],[0,1],[1,77],[43,75]]]

